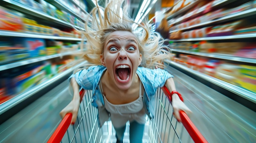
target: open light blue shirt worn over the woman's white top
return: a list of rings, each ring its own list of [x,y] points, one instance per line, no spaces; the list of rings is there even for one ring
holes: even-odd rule
[[[105,66],[90,66],[88,69],[83,69],[75,74],[71,75],[70,78],[75,77],[76,82],[85,90],[92,90],[92,105],[98,108],[98,123],[100,127],[105,121],[109,119],[108,111],[105,109],[103,95],[99,87],[100,79],[103,73],[106,71]],[[153,117],[153,107],[155,101],[155,92],[157,88],[163,87],[166,80],[173,77],[166,70],[160,68],[149,69],[144,67],[138,67],[137,75],[144,86],[144,108],[145,112],[150,119]],[[69,78],[69,79],[70,79]]]

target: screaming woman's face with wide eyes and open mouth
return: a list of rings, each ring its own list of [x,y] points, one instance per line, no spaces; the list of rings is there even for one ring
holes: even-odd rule
[[[141,58],[137,40],[131,32],[115,31],[106,38],[101,63],[106,66],[117,88],[130,88]]]

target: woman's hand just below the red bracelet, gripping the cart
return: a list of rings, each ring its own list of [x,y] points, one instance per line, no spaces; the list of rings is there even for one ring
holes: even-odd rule
[[[192,113],[192,111],[180,100],[180,97],[175,93],[172,96],[173,115],[178,122],[181,121],[179,111],[182,110],[186,114]]]

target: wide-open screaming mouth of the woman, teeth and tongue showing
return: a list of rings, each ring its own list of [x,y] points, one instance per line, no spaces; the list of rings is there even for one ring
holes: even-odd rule
[[[116,68],[116,76],[117,79],[119,79],[120,81],[127,81],[130,77],[130,66],[128,65],[119,65]]]

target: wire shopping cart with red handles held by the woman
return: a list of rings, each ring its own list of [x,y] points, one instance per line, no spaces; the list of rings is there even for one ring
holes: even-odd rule
[[[143,142],[208,143],[184,111],[180,111],[181,123],[173,117],[170,95],[166,87],[157,90],[155,117],[146,121]],[[70,125],[72,114],[66,114],[47,143],[115,143],[115,130],[111,121],[99,128],[97,109],[91,104],[92,91],[81,90],[80,96],[81,104],[76,123]],[[128,130],[126,128],[125,136],[129,135]],[[128,138],[124,139],[124,143],[129,143]]]

